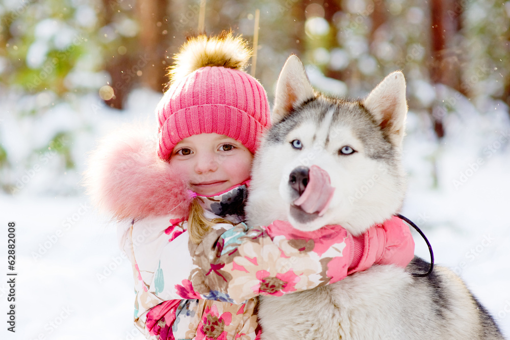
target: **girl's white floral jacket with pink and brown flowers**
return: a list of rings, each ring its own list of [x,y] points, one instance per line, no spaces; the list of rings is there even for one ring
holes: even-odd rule
[[[135,324],[148,339],[256,339],[258,295],[281,296],[347,276],[353,246],[345,229],[302,232],[286,222],[248,227],[245,197],[244,185],[202,197],[206,217],[238,224],[216,224],[199,245],[189,242],[182,219],[119,225],[135,279]],[[414,244],[402,265],[413,251]]]

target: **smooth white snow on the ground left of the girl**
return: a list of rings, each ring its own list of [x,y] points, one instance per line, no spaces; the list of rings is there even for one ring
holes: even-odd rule
[[[3,327],[2,338],[142,338],[132,325],[133,278],[116,246],[114,224],[96,216],[83,196],[2,196],[0,205],[3,225],[16,223],[18,273],[16,336],[5,337]],[[2,282],[1,310],[7,311]]]

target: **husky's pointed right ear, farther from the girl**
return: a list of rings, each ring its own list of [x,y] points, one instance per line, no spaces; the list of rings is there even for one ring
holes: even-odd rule
[[[363,100],[363,106],[375,117],[394,145],[400,145],[404,137],[407,114],[405,79],[402,72],[390,73]]]

